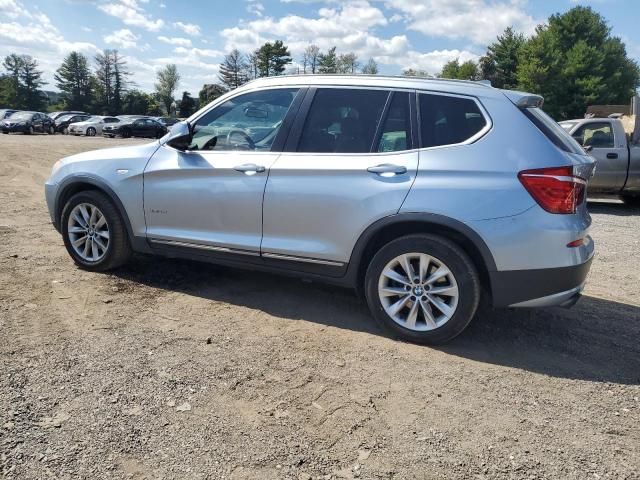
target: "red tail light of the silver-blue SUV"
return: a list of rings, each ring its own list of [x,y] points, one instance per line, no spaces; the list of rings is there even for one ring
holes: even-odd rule
[[[573,167],[523,170],[518,179],[542,208],[550,213],[575,213],[585,199],[587,182]]]

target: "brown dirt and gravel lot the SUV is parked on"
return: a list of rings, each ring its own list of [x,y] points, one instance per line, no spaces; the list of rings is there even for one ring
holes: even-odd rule
[[[43,182],[137,140],[0,135],[6,478],[640,478],[640,210],[593,202],[572,310],[482,315],[445,348],[349,291],[161,258],[72,264]]]

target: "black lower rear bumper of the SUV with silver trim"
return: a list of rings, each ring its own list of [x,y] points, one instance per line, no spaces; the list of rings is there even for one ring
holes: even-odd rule
[[[493,306],[571,306],[580,298],[592,260],[570,267],[489,272]]]

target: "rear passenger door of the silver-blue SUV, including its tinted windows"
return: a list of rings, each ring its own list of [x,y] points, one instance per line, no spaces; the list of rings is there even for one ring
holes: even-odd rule
[[[309,90],[269,172],[263,257],[343,267],[360,234],[398,212],[418,167],[414,98],[388,89]]]

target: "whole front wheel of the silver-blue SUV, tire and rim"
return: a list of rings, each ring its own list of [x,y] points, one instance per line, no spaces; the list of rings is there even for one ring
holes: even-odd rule
[[[71,197],[62,210],[60,225],[69,255],[84,269],[111,270],[131,255],[122,217],[101,192],[92,190]]]

